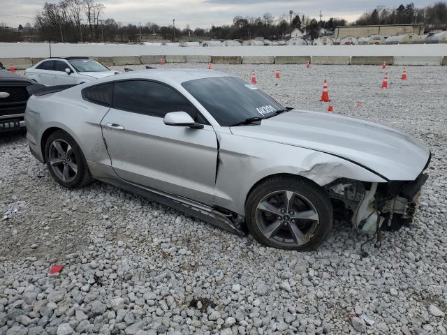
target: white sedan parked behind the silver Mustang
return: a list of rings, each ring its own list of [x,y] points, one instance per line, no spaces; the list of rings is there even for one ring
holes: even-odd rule
[[[88,57],[50,58],[25,70],[25,77],[46,86],[82,84],[115,75],[103,64]]]

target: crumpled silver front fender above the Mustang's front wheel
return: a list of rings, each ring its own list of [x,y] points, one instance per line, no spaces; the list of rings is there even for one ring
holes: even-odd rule
[[[251,188],[274,174],[293,174],[323,186],[338,178],[387,182],[378,174],[344,158],[312,149],[294,147],[217,133],[219,167],[214,204],[244,215],[245,200]]]

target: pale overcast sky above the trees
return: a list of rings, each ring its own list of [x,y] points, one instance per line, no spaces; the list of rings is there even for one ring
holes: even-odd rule
[[[57,2],[48,0],[47,2]],[[189,24],[209,28],[211,24],[230,24],[235,15],[261,16],[269,12],[274,17],[288,15],[288,10],[305,13],[318,18],[320,10],[323,20],[341,17],[348,22],[358,18],[365,10],[376,6],[399,6],[395,0],[103,0],[104,18],[112,17],[123,24],[145,24],[148,21],[159,25],[172,24],[184,28]],[[407,0],[404,2],[411,2]],[[432,4],[434,1],[414,1],[416,7]],[[0,23],[16,27],[18,24],[33,22],[33,17],[43,8],[42,0],[1,0]]]

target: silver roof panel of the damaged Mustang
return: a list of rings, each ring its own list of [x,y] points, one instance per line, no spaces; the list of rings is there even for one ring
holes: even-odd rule
[[[152,79],[159,80],[161,82],[187,82],[189,80],[205,79],[212,77],[233,77],[233,75],[228,75],[228,73],[223,73],[214,70],[205,69],[195,69],[195,68],[154,68],[149,70],[136,70],[124,73],[119,73],[111,77],[104,78],[105,80],[125,80],[125,79]]]

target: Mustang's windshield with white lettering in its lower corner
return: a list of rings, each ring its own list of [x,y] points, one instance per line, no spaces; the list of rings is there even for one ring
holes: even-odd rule
[[[182,86],[206,108],[221,126],[252,117],[270,117],[283,110],[277,101],[237,77],[212,77],[184,82]]]

